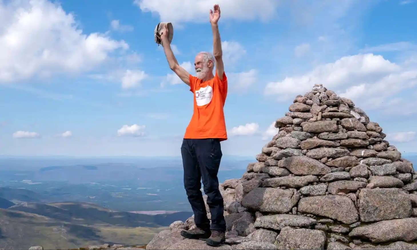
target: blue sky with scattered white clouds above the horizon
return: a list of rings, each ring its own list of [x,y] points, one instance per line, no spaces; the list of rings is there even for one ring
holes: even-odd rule
[[[0,155],[180,155],[194,96],[153,32],[173,24],[174,55],[195,75],[216,3],[224,155],[260,153],[316,83],[417,152],[417,1],[0,0]]]

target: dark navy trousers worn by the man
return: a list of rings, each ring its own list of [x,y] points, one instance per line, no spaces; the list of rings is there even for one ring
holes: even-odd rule
[[[223,197],[219,191],[220,160],[222,157],[219,139],[183,139],[181,155],[184,169],[184,188],[194,212],[194,222],[202,229],[226,231]],[[201,193],[207,195],[207,205],[211,213],[211,226],[207,218],[206,205]]]

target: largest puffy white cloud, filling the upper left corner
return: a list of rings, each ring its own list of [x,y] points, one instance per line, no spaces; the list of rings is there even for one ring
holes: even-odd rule
[[[128,49],[123,40],[84,34],[74,15],[58,4],[6,2],[0,1],[0,82],[90,70],[112,52]]]

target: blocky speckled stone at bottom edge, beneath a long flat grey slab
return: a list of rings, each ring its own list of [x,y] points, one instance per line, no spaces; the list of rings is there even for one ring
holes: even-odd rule
[[[278,249],[324,249],[326,234],[322,230],[285,227],[276,238]]]

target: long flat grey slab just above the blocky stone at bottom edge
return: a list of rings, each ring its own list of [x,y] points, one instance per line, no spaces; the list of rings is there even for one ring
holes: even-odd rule
[[[286,226],[309,227],[316,223],[316,219],[301,215],[264,215],[256,218],[255,227],[281,230]]]

